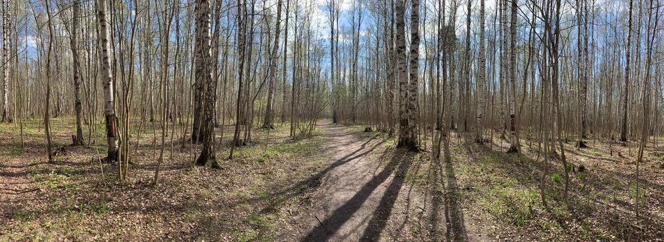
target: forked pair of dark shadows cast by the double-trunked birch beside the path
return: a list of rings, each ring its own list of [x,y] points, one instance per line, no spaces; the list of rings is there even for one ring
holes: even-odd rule
[[[411,159],[407,156],[413,156],[411,153],[402,153],[395,155],[391,158],[390,162],[386,164],[384,169],[380,171],[369,180],[361,189],[352,196],[350,200],[341,205],[332,212],[332,215],[321,221],[320,224],[312,229],[307,236],[300,241],[326,241],[337,232],[343,223],[346,223],[364,204],[364,202],[371,196],[373,191],[377,189],[380,184],[387,180],[393,173],[395,177],[387,187],[384,196],[381,198],[380,203],[373,213],[369,225],[362,235],[362,240],[372,240],[380,235],[380,232],[387,223],[387,218],[391,214],[392,207],[398,198],[399,191],[403,185],[405,172],[411,164]]]

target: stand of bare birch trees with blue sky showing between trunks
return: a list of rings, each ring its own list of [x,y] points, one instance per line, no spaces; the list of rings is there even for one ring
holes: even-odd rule
[[[67,142],[105,136],[108,161],[151,142],[159,165],[178,159],[173,149],[191,149],[191,164],[233,158],[260,127],[313,136],[319,118],[366,124],[413,151],[457,133],[550,156],[559,140],[582,147],[614,128],[629,146],[645,108],[646,136],[664,132],[662,35],[647,1],[195,3],[2,1],[0,118],[43,117],[53,145],[53,120],[75,115]]]

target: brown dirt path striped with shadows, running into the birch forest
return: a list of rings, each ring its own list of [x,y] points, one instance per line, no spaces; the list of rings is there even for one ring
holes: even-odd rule
[[[442,191],[429,196],[407,182],[409,171],[418,169],[414,153],[395,151],[376,133],[321,128],[330,138],[332,162],[314,192],[312,218],[300,241],[469,239],[461,212],[438,209],[454,207],[448,201],[455,199],[443,198]]]

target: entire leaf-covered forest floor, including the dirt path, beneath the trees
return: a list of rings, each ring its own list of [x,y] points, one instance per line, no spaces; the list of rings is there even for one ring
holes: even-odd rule
[[[40,120],[28,122],[23,147],[18,126],[0,124],[0,241],[664,240],[661,146],[648,146],[636,196],[634,143],[614,144],[613,156],[607,142],[565,144],[575,166],[566,205],[559,157],[545,163],[526,139],[517,156],[497,135],[478,145],[453,133],[444,162],[426,138],[425,151],[412,153],[384,133],[323,120],[312,138],[289,138],[277,124],[267,145],[267,130],[255,129],[225,160],[225,127],[221,169],[192,167],[200,147],[167,137],[155,186],[160,131],[148,123],[120,185],[117,166],[98,160],[103,127],[97,145],[69,147],[72,123],[54,119],[54,146],[65,152],[52,163]]]

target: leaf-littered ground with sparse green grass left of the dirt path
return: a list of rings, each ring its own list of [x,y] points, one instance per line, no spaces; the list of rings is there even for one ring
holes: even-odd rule
[[[155,187],[158,145],[148,129],[120,185],[116,166],[98,160],[103,145],[66,146],[73,123],[54,120],[54,143],[67,152],[53,163],[46,162],[39,120],[28,123],[24,147],[18,128],[0,124],[0,241],[270,240],[325,154],[323,138],[292,140],[287,126],[276,125],[267,149],[266,130],[256,129],[255,142],[238,149],[234,160],[209,169],[191,167],[197,147],[185,140],[174,138],[171,154],[168,137]],[[230,143],[228,133],[223,144]],[[135,133],[131,138],[134,146]],[[103,144],[101,134],[96,144]],[[217,157],[227,157],[228,147],[220,148]]]

